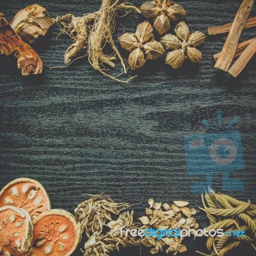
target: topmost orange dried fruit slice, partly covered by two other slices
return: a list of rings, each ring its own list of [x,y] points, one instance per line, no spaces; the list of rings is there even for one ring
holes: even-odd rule
[[[49,196],[36,180],[21,178],[7,184],[0,192],[0,207],[12,205],[28,211],[32,220],[51,209]]]

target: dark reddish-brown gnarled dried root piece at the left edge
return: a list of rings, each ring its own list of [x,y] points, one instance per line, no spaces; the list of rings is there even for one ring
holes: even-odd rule
[[[18,68],[22,76],[40,74],[43,71],[43,63],[38,54],[12,29],[8,21],[0,13],[0,54],[13,54],[18,59]]]

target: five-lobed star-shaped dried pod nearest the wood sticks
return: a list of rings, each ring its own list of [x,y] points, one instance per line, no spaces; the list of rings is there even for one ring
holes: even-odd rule
[[[161,43],[168,52],[166,56],[166,64],[172,68],[182,66],[184,60],[188,58],[193,63],[199,63],[202,60],[202,52],[196,49],[205,41],[205,35],[199,31],[189,34],[187,24],[182,21],[175,27],[175,35],[167,34],[161,38]]]

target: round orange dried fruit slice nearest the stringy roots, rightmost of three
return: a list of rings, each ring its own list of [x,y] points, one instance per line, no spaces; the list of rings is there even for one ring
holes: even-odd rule
[[[69,256],[80,239],[80,225],[64,210],[43,212],[33,221],[34,239],[31,256]]]

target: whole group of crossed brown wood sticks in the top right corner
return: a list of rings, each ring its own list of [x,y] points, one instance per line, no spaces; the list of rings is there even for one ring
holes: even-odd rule
[[[227,40],[222,51],[214,54],[213,57],[216,61],[215,68],[228,72],[233,77],[237,77],[241,74],[244,67],[246,67],[256,53],[256,38],[239,44],[243,29],[256,26],[256,17],[248,19],[253,4],[254,0],[243,0],[232,23],[208,29],[209,35],[218,35],[228,32]],[[239,56],[239,58],[232,65],[232,61],[237,56]]]

